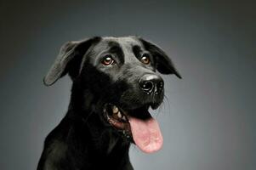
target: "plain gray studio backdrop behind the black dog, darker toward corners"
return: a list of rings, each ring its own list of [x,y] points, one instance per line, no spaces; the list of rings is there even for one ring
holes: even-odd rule
[[[1,1],[0,169],[35,169],[43,139],[65,115],[71,81],[42,78],[60,46],[139,35],[159,44],[184,79],[164,76],[157,110],[164,145],[135,169],[256,168],[256,5],[213,1]],[[154,114],[154,113],[153,113]]]

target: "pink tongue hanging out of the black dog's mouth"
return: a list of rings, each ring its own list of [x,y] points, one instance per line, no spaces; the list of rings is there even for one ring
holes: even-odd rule
[[[129,122],[135,144],[145,153],[152,153],[162,147],[162,133],[156,120],[151,117],[143,121],[129,117]]]

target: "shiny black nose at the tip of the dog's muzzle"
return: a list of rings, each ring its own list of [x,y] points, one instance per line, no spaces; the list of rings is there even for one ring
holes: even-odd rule
[[[163,89],[163,80],[154,74],[146,74],[139,79],[139,88],[146,94],[161,94]]]

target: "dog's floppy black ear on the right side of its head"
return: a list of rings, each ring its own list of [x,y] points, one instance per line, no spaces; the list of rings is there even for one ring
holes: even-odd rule
[[[174,67],[174,63],[161,48],[157,47],[156,44],[152,42],[145,41],[142,38],[139,38],[139,40],[143,43],[145,49],[148,50],[156,59],[157,71],[162,74],[174,74],[176,77],[181,78],[179,72]]]

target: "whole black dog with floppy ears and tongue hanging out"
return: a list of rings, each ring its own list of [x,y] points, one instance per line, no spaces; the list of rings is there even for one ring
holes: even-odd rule
[[[69,74],[69,109],[45,139],[37,170],[133,169],[128,149],[159,150],[162,134],[148,112],[163,99],[156,74],[179,76],[168,56],[139,37],[67,42],[43,82]]]

